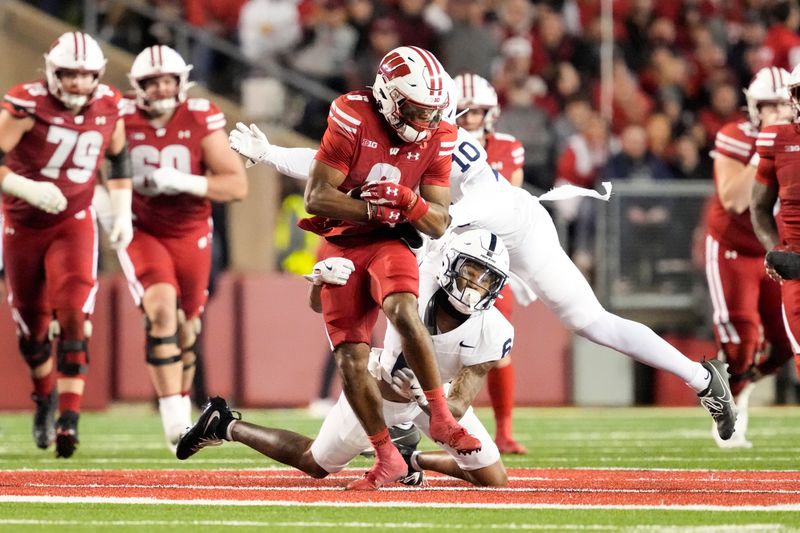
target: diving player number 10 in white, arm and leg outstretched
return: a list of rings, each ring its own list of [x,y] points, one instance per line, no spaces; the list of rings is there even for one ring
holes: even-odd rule
[[[452,113],[446,117],[454,120]],[[234,151],[249,159],[248,164],[263,162],[287,176],[308,179],[312,149],[272,145],[255,124],[238,123],[228,140]],[[558,191],[542,199],[559,199]],[[679,377],[697,392],[720,437],[730,439],[736,404],[727,365],[717,359],[692,361],[649,327],[604,309],[561,248],[553,220],[539,198],[498,176],[486,162],[484,149],[463,128],[453,151],[450,194],[451,229],[484,228],[505,242],[511,258],[510,283],[520,304],[539,298],[578,335]]]

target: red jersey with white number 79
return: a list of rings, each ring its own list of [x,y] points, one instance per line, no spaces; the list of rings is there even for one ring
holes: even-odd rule
[[[8,153],[5,164],[20,176],[55,183],[67,198],[67,208],[52,215],[3,195],[3,208],[10,221],[49,227],[89,207],[97,173],[120,116],[120,99],[119,91],[100,84],[89,104],[73,115],[50,94],[44,80],[17,85],[6,93],[3,108],[17,118],[33,118],[34,125]]]

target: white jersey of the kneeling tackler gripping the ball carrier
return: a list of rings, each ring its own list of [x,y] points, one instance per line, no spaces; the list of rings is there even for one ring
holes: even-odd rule
[[[438,261],[427,258],[420,266],[419,314],[429,329],[434,328],[433,331],[437,331],[433,323],[434,317],[430,316],[429,312],[431,300],[439,289],[433,268],[438,268]],[[491,307],[486,311],[474,313],[452,331],[433,333],[431,339],[442,383],[447,383],[455,378],[461,367],[497,361],[508,355],[514,344],[514,327],[500,311]],[[372,361],[370,367],[377,366],[380,374],[376,371],[373,371],[373,374],[391,383],[391,375],[395,365],[398,365],[401,352],[400,335],[389,324],[383,341],[383,350],[376,350],[371,356],[379,357],[377,362]],[[405,365],[401,361],[399,366]]]

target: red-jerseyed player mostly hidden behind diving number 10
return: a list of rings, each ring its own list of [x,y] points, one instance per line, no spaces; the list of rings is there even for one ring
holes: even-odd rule
[[[494,87],[477,74],[459,74],[454,81],[458,97],[456,123],[481,143],[486,150],[487,162],[497,173],[512,185],[521,186],[525,148],[513,135],[494,131],[494,123],[500,116],[500,105]],[[495,307],[510,322],[514,309],[511,286],[507,285],[500,296]],[[489,371],[487,383],[497,428],[494,438],[497,447],[501,453],[528,453],[512,434],[514,366],[510,356],[501,359]]]

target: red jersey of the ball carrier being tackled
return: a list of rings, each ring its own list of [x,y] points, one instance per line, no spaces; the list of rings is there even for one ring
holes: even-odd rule
[[[347,193],[364,183],[391,181],[419,190],[420,185],[450,186],[450,167],[458,130],[442,122],[424,143],[401,141],[378,112],[369,91],[354,91],[333,101],[328,129],[315,159],[345,176],[339,190]],[[385,224],[357,224],[312,217],[298,224],[324,237],[372,233]]]

